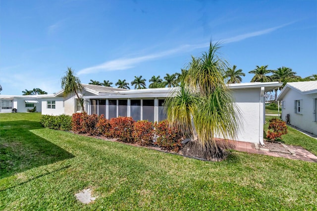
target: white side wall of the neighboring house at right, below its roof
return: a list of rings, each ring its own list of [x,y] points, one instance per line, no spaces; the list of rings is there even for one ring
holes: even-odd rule
[[[317,94],[303,95],[293,89],[290,89],[283,97],[282,119],[286,120],[286,114],[290,114],[290,124],[300,129],[317,135],[317,122],[314,117],[314,99]],[[302,100],[301,114],[295,113],[294,101]]]

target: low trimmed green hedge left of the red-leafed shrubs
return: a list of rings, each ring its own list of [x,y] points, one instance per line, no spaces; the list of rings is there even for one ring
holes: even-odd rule
[[[42,115],[40,123],[43,127],[48,127],[54,130],[71,130],[72,117],[61,114],[59,116]]]

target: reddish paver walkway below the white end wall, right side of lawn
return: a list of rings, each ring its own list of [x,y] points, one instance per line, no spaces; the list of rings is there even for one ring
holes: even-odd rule
[[[255,144],[249,143],[249,142],[235,142],[235,150],[240,151],[240,152],[247,152],[247,153],[252,153],[252,154],[261,154],[261,155],[267,155],[267,156],[273,156],[273,157],[282,157],[282,158],[289,158],[289,159],[299,159],[299,160],[304,160],[308,162],[317,162],[317,156],[314,154],[308,152],[302,147],[298,146],[287,146],[288,149],[293,153],[293,154],[286,154],[286,153],[276,153],[276,152],[270,152],[268,150],[264,150],[259,148],[258,146],[256,147]]]

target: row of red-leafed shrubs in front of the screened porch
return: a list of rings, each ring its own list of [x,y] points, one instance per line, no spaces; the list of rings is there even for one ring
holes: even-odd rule
[[[74,113],[72,116],[72,131],[93,136],[116,138],[128,143],[139,143],[142,146],[153,144],[164,150],[178,152],[182,136],[177,128],[170,126],[166,120],[153,124],[147,120],[135,121],[132,117],[117,117],[110,120],[104,115],[88,115]],[[155,137],[157,141],[154,142]]]

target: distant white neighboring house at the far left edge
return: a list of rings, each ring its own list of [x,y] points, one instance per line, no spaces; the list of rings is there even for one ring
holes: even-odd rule
[[[27,112],[36,106],[36,111],[42,111],[41,96],[50,95],[0,95],[0,113],[10,113],[12,108],[16,108],[17,112]]]

